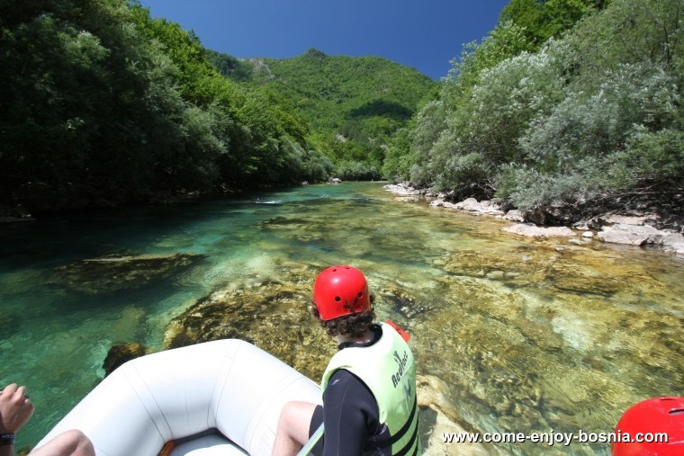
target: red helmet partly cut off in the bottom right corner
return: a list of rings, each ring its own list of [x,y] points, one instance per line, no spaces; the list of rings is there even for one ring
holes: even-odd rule
[[[684,398],[653,398],[639,402],[627,409],[615,431],[620,442],[613,443],[613,456],[682,455]],[[662,442],[662,434],[667,434],[667,442]]]

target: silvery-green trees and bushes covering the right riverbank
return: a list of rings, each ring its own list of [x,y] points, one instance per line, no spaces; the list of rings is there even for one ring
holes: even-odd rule
[[[682,6],[512,1],[397,137],[385,173],[547,214],[681,210]]]

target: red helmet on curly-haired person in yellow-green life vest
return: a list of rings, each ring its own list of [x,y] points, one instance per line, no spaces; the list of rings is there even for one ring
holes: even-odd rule
[[[352,266],[330,266],[313,282],[313,303],[328,321],[371,309],[364,273]]]

